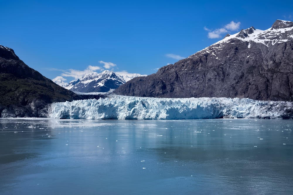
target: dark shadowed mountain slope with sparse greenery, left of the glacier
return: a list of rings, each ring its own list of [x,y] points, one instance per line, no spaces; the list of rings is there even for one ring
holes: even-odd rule
[[[87,98],[60,87],[0,45],[0,117],[44,117],[47,104]]]

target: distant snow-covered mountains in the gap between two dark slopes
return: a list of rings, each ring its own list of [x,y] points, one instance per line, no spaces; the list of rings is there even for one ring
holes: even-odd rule
[[[63,82],[61,79],[53,80],[56,84],[69,89],[74,92],[108,92],[111,89],[117,89],[120,85],[125,84],[127,81],[134,77],[147,76],[140,74],[124,73],[119,75],[110,70],[104,70],[101,73],[89,71],[80,79],[72,80],[69,83]]]

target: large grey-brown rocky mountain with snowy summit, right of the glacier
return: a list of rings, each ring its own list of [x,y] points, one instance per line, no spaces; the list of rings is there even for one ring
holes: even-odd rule
[[[115,94],[147,97],[239,97],[293,100],[293,22],[250,27],[156,74],[137,77]]]

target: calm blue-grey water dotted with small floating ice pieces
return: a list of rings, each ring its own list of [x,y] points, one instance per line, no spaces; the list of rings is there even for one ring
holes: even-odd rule
[[[293,194],[292,130],[293,120],[1,119],[0,194]]]

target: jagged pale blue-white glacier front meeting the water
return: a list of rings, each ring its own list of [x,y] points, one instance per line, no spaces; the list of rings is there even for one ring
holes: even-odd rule
[[[106,98],[56,102],[49,118],[58,119],[214,119],[293,118],[293,103],[239,98],[150,98],[109,95]]]

